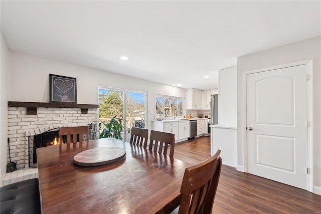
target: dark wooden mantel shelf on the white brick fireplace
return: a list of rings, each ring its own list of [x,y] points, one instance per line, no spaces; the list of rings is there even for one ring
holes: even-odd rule
[[[99,108],[94,104],[75,104],[75,103],[37,103],[37,102],[12,102],[8,101],[8,107],[26,107],[27,114],[36,115],[38,107],[45,108],[80,108],[82,114],[88,113],[88,108]]]

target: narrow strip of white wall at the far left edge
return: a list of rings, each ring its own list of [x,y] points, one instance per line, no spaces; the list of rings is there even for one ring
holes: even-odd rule
[[[7,149],[8,149],[8,89],[9,89],[9,60],[10,55],[8,51],[7,44],[1,33],[1,60],[0,60],[0,170],[1,170],[1,180],[7,171]]]

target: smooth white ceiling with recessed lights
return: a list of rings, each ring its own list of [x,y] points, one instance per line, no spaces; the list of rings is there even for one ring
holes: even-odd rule
[[[237,66],[239,56],[320,35],[320,8],[320,1],[1,1],[1,29],[14,51],[205,90],[218,88],[218,70]]]

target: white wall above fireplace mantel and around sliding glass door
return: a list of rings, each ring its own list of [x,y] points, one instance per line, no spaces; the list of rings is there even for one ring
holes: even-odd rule
[[[149,129],[154,119],[156,94],[186,97],[186,89],[14,51],[11,51],[10,62],[9,101],[49,102],[49,74],[76,78],[79,104],[98,104],[98,86],[146,91],[146,128]]]

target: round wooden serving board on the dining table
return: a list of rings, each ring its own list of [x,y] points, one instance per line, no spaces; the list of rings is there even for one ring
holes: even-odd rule
[[[119,147],[101,147],[82,151],[74,156],[73,162],[79,166],[100,166],[122,160],[126,150]]]

